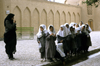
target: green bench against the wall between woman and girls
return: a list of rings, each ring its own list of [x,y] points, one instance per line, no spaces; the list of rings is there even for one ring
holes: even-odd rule
[[[34,27],[17,27],[17,39],[34,39]]]

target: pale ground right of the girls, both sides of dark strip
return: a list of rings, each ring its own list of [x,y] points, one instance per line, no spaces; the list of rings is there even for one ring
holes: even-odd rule
[[[91,33],[92,47],[89,51],[100,48],[100,32]],[[88,59],[72,66],[100,66],[100,52],[87,57]]]

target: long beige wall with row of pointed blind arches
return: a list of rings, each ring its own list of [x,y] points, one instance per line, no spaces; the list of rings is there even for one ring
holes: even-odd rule
[[[35,34],[40,24],[47,27],[52,24],[58,31],[61,24],[71,21],[79,23],[81,20],[81,7],[47,1],[15,0],[11,3],[11,12],[16,15],[18,27],[34,27]]]

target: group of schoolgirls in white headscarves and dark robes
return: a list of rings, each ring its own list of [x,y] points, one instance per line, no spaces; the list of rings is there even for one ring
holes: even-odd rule
[[[61,60],[65,63],[65,58],[80,53],[88,52],[91,46],[91,28],[82,21],[80,24],[71,22],[60,26],[56,33],[54,26],[41,24],[37,33],[37,42],[41,54],[41,62]]]

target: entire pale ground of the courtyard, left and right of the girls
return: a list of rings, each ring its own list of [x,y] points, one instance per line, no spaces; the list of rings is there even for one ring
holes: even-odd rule
[[[92,47],[89,51],[100,48],[100,32],[91,33]],[[40,62],[40,54],[38,51],[38,44],[36,41],[36,36],[34,40],[18,40],[17,43],[17,53],[14,55],[16,60],[10,61],[5,54],[5,44],[0,41],[0,66],[36,66],[39,64],[46,64]],[[73,66],[100,66],[96,65],[100,63],[100,56],[90,58]],[[95,64],[95,65],[94,65]]]

